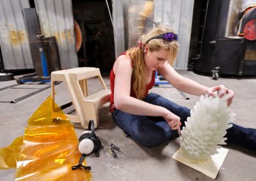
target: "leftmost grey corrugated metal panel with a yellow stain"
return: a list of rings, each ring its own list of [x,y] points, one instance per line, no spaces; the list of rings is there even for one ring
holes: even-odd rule
[[[23,8],[28,0],[0,0],[0,45],[4,69],[33,69]]]

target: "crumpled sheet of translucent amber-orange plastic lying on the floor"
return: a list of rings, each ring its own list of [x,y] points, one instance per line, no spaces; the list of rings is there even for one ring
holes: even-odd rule
[[[0,168],[16,167],[15,180],[90,180],[90,171],[71,169],[81,157],[74,126],[61,113],[52,116],[51,103],[33,113],[24,137],[0,149]]]

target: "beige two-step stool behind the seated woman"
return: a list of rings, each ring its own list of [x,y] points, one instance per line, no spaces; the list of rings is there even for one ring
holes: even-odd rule
[[[88,78],[97,76],[103,90],[88,95]],[[65,82],[68,93],[72,99],[72,103],[77,115],[67,115],[68,119],[73,122],[80,122],[85,129],[88,128],[89,120],[95,121],[95,126],[99,124],[99,106],[104,105],[109,101],[111,92],[106,87],[99,68],[74,68],[55,71],[51,73],[51,96],[52,110],[57,110],[55,107],[55,92],[54,82]]]

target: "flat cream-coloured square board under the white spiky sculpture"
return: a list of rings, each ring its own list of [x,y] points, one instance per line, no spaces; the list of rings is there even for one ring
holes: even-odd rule
[[[220,148],[218,149],[218,154],[215,154],[214,156],[211,156],[212,159],[209,159],[208,161],[205,161],[204,163],[195,163],[193,161],[190,161],[188,158],[184,157],[182,155],[182,152],[179,148],[175,154],[173,154],[172,158],[190,166],[191,168],[200,171],[207,175],[208,177],[215,179],[217,177],[217,174],[221,168],[221,165],[223,164],[225,157],[228,154],[228,149],[226,148]]]

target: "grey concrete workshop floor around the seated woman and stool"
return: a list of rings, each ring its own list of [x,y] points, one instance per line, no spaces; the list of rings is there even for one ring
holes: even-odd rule
[[[232,103],[231,109],[236,113],[236,124],[256,128],[256,78],[219,78],[218,80],[212,80],[209,76],[196,75],[191,71],[179,71],[179,73],[209,87],[224,84],[229,89],[233,89],[236,93],[236,98]],[[104,80],[109,87],[108,75],[104,76]],[[96,81],[92,79],[88,83],[89,91],[93,92],[99,89],[100,85]],[[0,90],[15,83],[15,80],[0,82]],[[35,88],[38,89],[45,86],[47,85],[31,83],[14,87],[16,89],[0,91],[0,147],[10,145],[17,136],[24,134],[24,128],[29,117],[51,94],[51,89],[42,91],[18,103],[3,102],[10,102],[12,99],[35,91]],[[67,101],[66,98],[68,96],[65,96],[67,94],[65,85],[61,83],[57,85],[56,89],[61,92],[58,95],[60,103],[61,101]],[[156,87],[152,89],[152,92],[161,94],[166,98],[172,99],[175,103],[188,106],[188,108],[193,108],[196,101],[199,100],[198,97],[191,95],[188,95],[190,100],[186,100],[180,96],[176,89],[170,86]],[[97,129],[96,134],[102,141],[104,148],[100,150],[100,157],[95,157],[95,154],[86,157],[86,162],[92,166],[93,180],[212,180],[204,174],[172,159],[172,155],[179,148],[179,138],[167,141],[154,148],[142,147],[133,140],[131,144],[124,137],[122,131],[113,123],[108,112],[108,106],[100,108],[99,117],[100,128]],[[74,126],[77,137],[79,137],[84,130],[79,124],[74,124]],[[122,168],[118,167],[115,159],[109,154],[110,143],[115,143],[122,150],[131,154],[131,157],[127,157],[121,152],[117,152],[118,161],[122,164]],[[225,148],[228,148],[229,152],[216,180],[255,180],[256,153],[237,145],[228,145]],[[0,170],[0,180],[8,181],[14,180],[14,178],[15,169]]]

